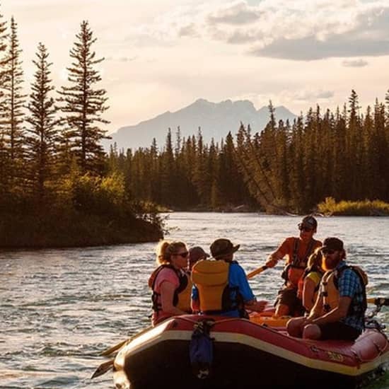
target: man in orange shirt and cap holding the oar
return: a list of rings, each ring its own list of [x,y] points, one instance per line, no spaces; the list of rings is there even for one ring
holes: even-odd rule
[[[301,299],[297,297],[298,281],[303,277],[308,257],[322,245],[320,240],[313,239],[317,228],[316,219],[310,215],[305,216],[301,223],[298,223],[300,235],[286,238],[277,250],[269,255],[266,262],[267,267],[274,267],[279,260],[286,257],[286,265],[281,274],[285,280],[284,286],[279,290],[274,303],[276,316],[303,314],[304,308]]]

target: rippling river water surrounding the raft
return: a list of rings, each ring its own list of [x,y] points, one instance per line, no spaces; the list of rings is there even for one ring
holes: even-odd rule
[[[250,272],[300,218],[262,214],[168,214],[166,238],[209,248],[216,238],[240,244],[236,260]],[[318,219],[317,238],[338,236],[349,262],[366,269],[368,296],[389,297],[389,219]],[[103,349],[149,325],[155,243],[0,252],[0,388],[113,388],[112,373],[90,379]],[[281,265],[250,280],[274,301]],[[389,309],[378,319],[389,325]],[[389,388],[389,376],[367,387]]]

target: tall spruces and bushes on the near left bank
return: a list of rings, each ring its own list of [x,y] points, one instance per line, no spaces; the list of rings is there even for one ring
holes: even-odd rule
[[[37,45],[30,94],[23,93],[17,23],[0,16],[0,245],[90,245],[161,238],[155,213],[132,201],[108,167],[101,141],[107,93],[96,66],[96,38],[81,23],[67,82],[50,79]],[[140,217],[139,217],[140,216]]]

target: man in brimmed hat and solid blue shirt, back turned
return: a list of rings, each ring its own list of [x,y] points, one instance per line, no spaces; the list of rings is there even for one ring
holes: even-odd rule
[[[213,259],[199,260],[192,268],[192,310],[207,315],[248,318],[246,309],[261,312],[267,301],[257,301],[238,262],[233,260],[240,245],[216,239]]]

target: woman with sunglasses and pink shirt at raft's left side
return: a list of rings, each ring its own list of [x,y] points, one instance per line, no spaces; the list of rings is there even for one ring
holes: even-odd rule
[[[156,325],[166,318],[191,313],[192,281],[187,274],[189,252],[182,242],[161,240],[156,247],[158,267],[149,278],[153,294],[151,323]]]

